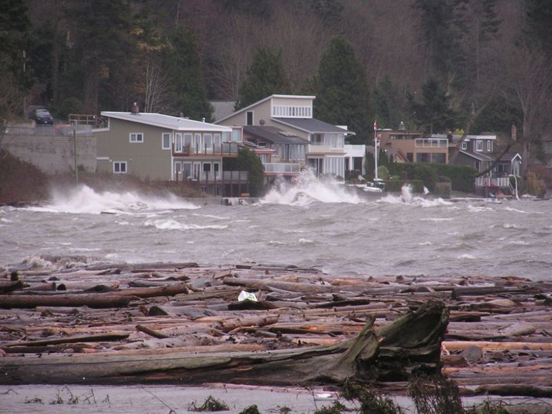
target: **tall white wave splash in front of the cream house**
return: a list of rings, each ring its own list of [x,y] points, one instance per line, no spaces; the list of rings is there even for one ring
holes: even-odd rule
[[[332,179],[319,180],[313,172],[305,170],[296,182],[278,181],[268,194],[261,199],[262,204],[288,204],[306,207],[313,203],[350,203],[364,202],[354,193]]]

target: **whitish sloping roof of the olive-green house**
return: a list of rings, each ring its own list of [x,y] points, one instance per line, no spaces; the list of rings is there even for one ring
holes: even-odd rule
[[[171,117],[170,115],[139,112],[133,114],[131,112],[101,112],[103,117],[122,119],[124,121],[137,122],[158,126],[159,128],[167,128],[177,131],[206,131],[206,132],[231,132],[232,128],[208,122],[193,121],[192,119]]]

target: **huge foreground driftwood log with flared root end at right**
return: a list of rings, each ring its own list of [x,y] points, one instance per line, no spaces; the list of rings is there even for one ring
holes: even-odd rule
[[[266,352],[72,355],[0,358],[0,384],[99,384],[128,382],[306,384],[406,380],[440,371],[448,323],[442,302],[428,302],[392,324],[371,319],[353,339],[327,347]]]

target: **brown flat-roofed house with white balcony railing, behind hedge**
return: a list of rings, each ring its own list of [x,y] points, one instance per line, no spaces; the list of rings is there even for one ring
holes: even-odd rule
[[[388,154],[401,161],[406,157],[408,162],[449,163],[449,140],[443,137],[424,137],[422,131],[406,130],[401,122],[398,129],[379,129],[376,136]]]

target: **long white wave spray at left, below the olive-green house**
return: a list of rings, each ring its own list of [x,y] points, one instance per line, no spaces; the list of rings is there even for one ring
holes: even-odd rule
[[[134,213],[141,210],[159,209],[175,210],[181,208],[191,209],[199,207],[175,195],[152,197],[130,191],[125,193],[115,193],[112,191],[97,193],[92,188],[83,185],[69,192],[54,190],[52,192],[52,201],[49,204],[33,209],[54,213],[100,214]]]

